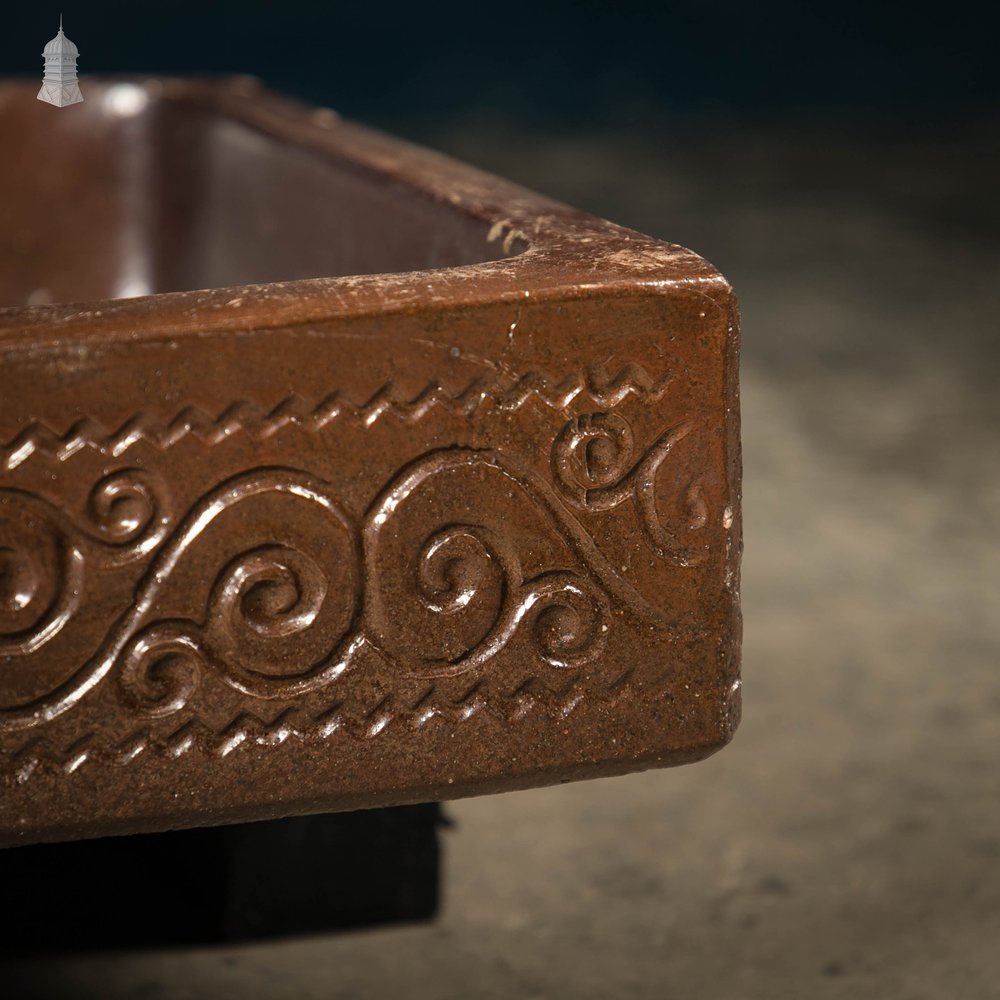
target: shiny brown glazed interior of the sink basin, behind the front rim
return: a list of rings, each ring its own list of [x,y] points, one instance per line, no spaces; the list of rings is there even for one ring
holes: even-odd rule
[[[370,166],[155,83],[82,86],[68,108],[0,89],[0,307],[503,256],[482,219]]]

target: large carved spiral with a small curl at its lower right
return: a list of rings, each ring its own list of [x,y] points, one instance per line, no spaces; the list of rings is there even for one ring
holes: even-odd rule
[[[501,491],[508,502],[498,508]],[[470,510],[474,521],[448,518]],[[525,573],[569,557],[545,530],[556,518],[495,454],[425,456],[367,516],[366,637],[411,676],[482,670],[512,642],[552,666],[583,663],[603,642],[603,594],[573,572]],[[429,519],[443,526],[427,535]]]

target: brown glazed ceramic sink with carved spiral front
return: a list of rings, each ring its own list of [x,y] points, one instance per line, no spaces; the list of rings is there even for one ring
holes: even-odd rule
[[[83,89],[0,89],[0,843],[723,746],[718,272],[252,81]]]

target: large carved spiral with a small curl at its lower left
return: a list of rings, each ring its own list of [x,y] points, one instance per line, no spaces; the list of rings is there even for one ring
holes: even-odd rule
[[[255,504],[267,505],[262,533],[273,538],[280,525],[288,541],[231,559],[211,587],[202,621],[161,621],[124,640],[121,683],[131,704],[153,714],[176,712],[206,672],[244,694],[273,698],[320,687],[347,669],[361,643],[356,529],[326,484],[292,470],[236,477],[205,497],[150,567],[120,634],[136,632],[165,581],[217,518],[249,505],[243,523],[253,524]],[[306,548],[323,552],[322,566]],[[115,655],[112,642],[108,657]]]

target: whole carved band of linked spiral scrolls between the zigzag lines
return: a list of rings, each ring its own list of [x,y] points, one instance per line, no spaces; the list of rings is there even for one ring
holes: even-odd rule
[[[638,453],[620,416],[577,417],[552,445],[555,489],[494,450],[445,448],[405,468],[360,515],[330,484],[290,468],[234,476],[179,520],[162,483],[139,469],[104,477],[77,519],[2,489],[0,655],[8,666],[67,626],[95,568],[148,565],[96,651],[54,690],[0,707],[0,731],[53,720],[106,682],[130,714],[150,720],[180,713],[209,676],[249,698],[293,699],[355,669],[366,648],[432,684],[475,680],[512,643],[572,675],[601,652],[612,602],[667,629],[673,623],[568,506],[602,512],[631,499],[657,555],[694,564],[699,554],[661,523],[655,504],[657,470],[690,431],[678,424]],[[491,504],[498,490],[508,497],[502,514]],[[705,513],[696,487],[687,500],[687,527],[697,530]],[[254,513],[275,503],[295,509]],[[234,517],[258,518],[266,537],[249,531],[245,550],[218,569],[199,549],[213,525]],[[282,525],[306,521],[311,535],[283,537]],[[204,581],[202,610],[164,616],[158,609],[183,578]],[[475,706],[475,685],[469,690]],[[567,711],[579,700],[572,685],[562,698]]]

